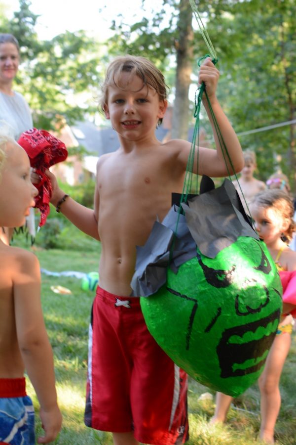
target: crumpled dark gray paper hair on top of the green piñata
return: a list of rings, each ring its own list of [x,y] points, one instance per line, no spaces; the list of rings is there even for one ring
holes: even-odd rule
[[[181,205],[185,215],[173,205],[162,223],[155,221],[146,244],[137,246],[133,296],[154,294],[166,282],[167,267],[177,273],[182,264],[196,256],[196,246],[203,255],[215,258],[239,236],[259,239],[228,179],[221,187]]]

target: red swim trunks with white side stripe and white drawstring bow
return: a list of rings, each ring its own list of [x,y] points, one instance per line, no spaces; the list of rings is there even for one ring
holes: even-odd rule
[[[187,375],[149,334],[137,297],[98,287],[89,327],[85,424],[145,444],[188,439]]]

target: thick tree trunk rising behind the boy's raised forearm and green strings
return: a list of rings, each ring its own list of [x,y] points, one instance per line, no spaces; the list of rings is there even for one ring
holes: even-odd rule
[[[188,0],[180,0],[178,31],[180,37],[175,44],[177,49],[177,70],[171,137],[173,139],[187,140],[189,122],[188,92],[191,83],[193,57],[192,9]]]

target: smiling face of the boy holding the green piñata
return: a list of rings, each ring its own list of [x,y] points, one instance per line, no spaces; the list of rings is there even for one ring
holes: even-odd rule
[[[145,85],[137,75],[124,72],[118,85],[108,87],[105,116],[118,135],[129,140],[154,137],[158,120],[163,118],[167,102]]]

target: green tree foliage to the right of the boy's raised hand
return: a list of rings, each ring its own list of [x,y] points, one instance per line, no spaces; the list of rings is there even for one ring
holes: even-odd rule
[[[251,0],[235,2],[208,24],[215,38],[219,29],[223,103],[238,133],[296,118],[295,16],[294,1]],[[257,152],[263,179],[281,169],[295,187],[294,132],[286,125],[241,136],[243,148]]]

